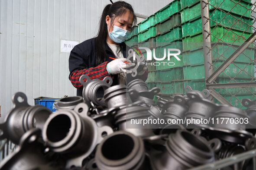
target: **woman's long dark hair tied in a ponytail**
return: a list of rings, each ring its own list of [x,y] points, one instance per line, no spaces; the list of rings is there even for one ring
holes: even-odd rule
[[[106,16],[110,16],[112,22],[117,16],[122,16],[124,12],[130,11],[133,13],[133,25],[136,25],[137,19],[136,15],[133,12],[133,7],[124,1],[117,1],[113,4],[108,4],[105,6],[101,19],[100,19],[100,29],[95,41],[95,50],[96,50],[96,65],[99,65],[106,61],[106,52],[105,52],[105,42],[107,40],[107,23]]]

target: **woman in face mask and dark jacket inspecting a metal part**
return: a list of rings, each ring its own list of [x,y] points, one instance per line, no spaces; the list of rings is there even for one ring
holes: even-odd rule
[[[125,62],[128,50],[124,41],[133,25],[136,25],[136,16],[129,3],[117,1],[109,4],[103,10],[97,37],[73,48],[69,57],[69,79],[77,88],[78,96],[82,96],[83,86],[79,78],[84,74],[90,79],[100,80],[111,76],[112,86],[125,83],[126,69],[134,66],[134,63]],[[137,78],[145,81],[147,71],[143,73]],[[103,90],[97,91],[98,97],[103,97],[103,94]]]

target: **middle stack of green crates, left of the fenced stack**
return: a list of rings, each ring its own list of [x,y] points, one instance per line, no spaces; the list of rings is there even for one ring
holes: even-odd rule
[[[156,22],[154,25],[154,28],[155,28],[154,41],[156,41],[156,44],[154,44],[155,46],[150,46],[150,48],[152,49],[152,52],[153,52],[153,49],[155,49],[155,54],[157,58],[164,55],[163,53],[165,49],[174,48],[175,43],[173,42],[182,43],[181,13],[179,13],[180,9],[181,9],[180,0],[174,0],[154,14],[156,18]],[[168,42],[168,43],[162,43],[162,42]],[[166,55],[167,55],[167,51],[166,51]],[[178,57],[182,58],[182,55],[179,55]],[[166,57],[165,60],[161,60],[161,61],[160,60],[149,61],[149,64],[152,64],[152,66],[148,65],[149,76],[152,76],[152,77],[148,76],[148,79],[146,82],[149,84],[150,88],[159,86],[162,81],[167,81],[167,80],[173,81],[177,79],[175,78],[174,75],[172,76],[169,75],[169,73],[176,72],[176,74],[178,74],[179,71],[181,70],[179,66],[183,66],[182,61],[178,62],[178,64],[176,64],[176,61],[175,61],[175,66],[169,66],[167,64],[165,64],[164,66],[162,66],[162,64],[160,66],[158,65],[159,62],[169,63],[169,62],[173,62],[173,60],[174,59],[171,58],[171,60],[168,61]],[[170,68],[175,68],[175,69],[171,70]],[[183,76],[183,74],[181,75]],[[164,78],[165,76],[166,76],[166,79]],[[183,79],[183,77],[180,77],[178,79]]]

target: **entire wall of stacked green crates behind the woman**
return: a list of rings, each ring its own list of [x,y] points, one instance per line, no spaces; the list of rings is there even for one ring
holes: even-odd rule
[[[212,60],[214,70],[216,70],[252,34],[252,27],[248,28],[248,25],[252,25],[253,19],[250,16],[250,10],[247,10],[252,7],[252,3],[250,0],[211,0],[208,6],[213,47]],[[237,38],[237,35],[241,37]],[[181,54],[178,55],[180,61],[174,57],[168,60],[166,57],[165,60],[151,60],[147,64],[149,76],[146,82],[149,88],[159,87],[160,96],[185,94],[186,85],[200,91],[205,89],[200,0],[172,1],[140,22],[126,42],[135,42],[139,43],[140,47],[149,47],[152,55],[154,52],[158,58],[164,56],[165,49],[181,50]],[[226,42],[234,45],[229,46]],[[146,51],[141,50],[141,52],[146,57]],[[221,73],[218,76],[216,82],[229,83],[230,77],[235,77],[233,82],[250,81],[252,79],[250,75],[254,75],[253,59],[254,47],[250,46],[224,70],[225,74]],[[165,65],[158,65],[157,62],[163,62]],[[166,64],[170,62],[175,65]],[[237,66],[242,70],[239,70]],[[247,89],[254,91],[253,88]],[[217,90],[234,106],[240,107],[240,102],[237,105],[237,99],[230,98],[232,96],[228,93],[233,94],[237,89],[226,88],[228,92]],[[246,93],[246,89],[239,91],[238,94],[237,98],[251,98]]]

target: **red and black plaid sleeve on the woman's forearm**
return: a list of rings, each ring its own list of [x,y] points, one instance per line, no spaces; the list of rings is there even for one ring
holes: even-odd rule
[[[70,74],[69,80],[71,81],[72,85],[75,88],[83,88],[83,85],[79,82],[79,79],[84,74],[89,76],[90,79],[103,80],[105,77],[110,76],[106,68],[107,63],[109,62],[106,61],[96,67],[91,67],[88,69],[77,69]],[[110,76],[110,77],[112,77],[113,79],[113,76]]]

